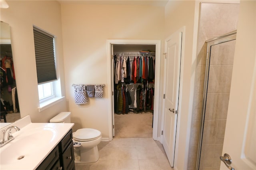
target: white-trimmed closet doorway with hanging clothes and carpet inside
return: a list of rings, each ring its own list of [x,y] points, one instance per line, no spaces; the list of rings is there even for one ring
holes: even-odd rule
[[[160,41],[109,40],[109,46],[112,138],[157,140]]]

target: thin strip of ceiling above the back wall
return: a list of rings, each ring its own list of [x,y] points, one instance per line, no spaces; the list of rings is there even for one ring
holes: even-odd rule
[[[165,6],[168,0],[58,0],[61,4],[105,4]]]

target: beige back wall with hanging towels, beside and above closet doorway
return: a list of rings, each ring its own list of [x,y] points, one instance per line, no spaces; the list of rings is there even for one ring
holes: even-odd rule
[[[108,138],[107,40],[162,40],[164,7],[63,3],[61,12],[66,98],[74,130],[96,128]],[[73,83],[104,83],[104,96],[76,105]]]

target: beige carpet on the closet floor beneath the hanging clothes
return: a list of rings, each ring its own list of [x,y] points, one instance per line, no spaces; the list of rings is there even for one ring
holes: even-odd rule
[[[151,112],[128,114],[115,114],[115,136],[114,138],[151,138],[152,120]]]

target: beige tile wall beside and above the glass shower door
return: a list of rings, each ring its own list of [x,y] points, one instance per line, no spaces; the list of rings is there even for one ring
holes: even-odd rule
[[[202,102],[203,102],[205,64],[206,64],[205,41],[236,30],[236,24],[238,21],[238,10],[239,10],[239,4],[202,3],[200,19],[199,19],[199,27],[198,27],[196,82],[195,82],[194,102],[193,102],[193,110],[192,110],[192,123],[191,123],[189,160],[188,160],[188,168],[191,168],[191,170],[196,167],[196,156],[197,156],[197,150],[198,150],[200,123],[201,123],[201,115],[202,115]],[[220,20],[219,18],[222,18],[222,19]],[[232,61],[233,61],[233,58],[232,58]],[[226,107],[227,106],[228,106],[228,102]],[[218,108],[220,109],[220,106],[218,106]],[[227,108],[226,108],[226,112],[227,112]],[[211,157],[208,159],[203,157],[202,160],[204,161],[208,160],[208,162],[212,163],[212,161],[209,161],[209,160],[213,160],[213,159]],[[215,166],[218,166],[218,165],[215,164]]]

